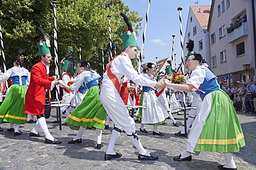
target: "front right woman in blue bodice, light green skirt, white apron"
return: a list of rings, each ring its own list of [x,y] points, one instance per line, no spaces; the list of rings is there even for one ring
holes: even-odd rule
[[[187,149],[173,159],[191,161],[191,153],[222,152],[226,157],[226,164],[219,165],[218,168],[237,169],[231,153],[244,147],[244,134],[229,96],[220,89],[217,76],[207,67],[200,65],[201,61],[201,54],[191,54],[188,57],[186,65],[193,72],[186,85],[165,82],[166,85],[179,90],[194,90],[203,100],[190,131]]]

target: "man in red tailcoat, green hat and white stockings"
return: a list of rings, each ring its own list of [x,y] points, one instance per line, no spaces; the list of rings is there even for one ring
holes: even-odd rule
[[[55,81],[57,78],[49,76],[48,64],[51,63],[52,60],[51,52],[48,48],[49,43],[46,40],[39,41],[37,46],[41,62],[33,65],[31,69],[30,84],[25,97],[25,114],[37,116],[37,123],[29,136],[43,137],[38,133],[38,129],[41,127],[46,138],[46,143],[59,144],[61,142],[53,138],[50,134],[45,120],[51,115],[49,93],[50,90],[58,84],[57,81]]]

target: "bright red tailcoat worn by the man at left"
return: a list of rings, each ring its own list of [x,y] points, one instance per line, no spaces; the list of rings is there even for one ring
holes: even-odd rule
[[[54,79],[54,76],[49,77],[49,74],[46,74],[44,63],[39,62],[32,67],[25,97],[25,114],[44,114],[46,89],[50,92],[51,82]]]

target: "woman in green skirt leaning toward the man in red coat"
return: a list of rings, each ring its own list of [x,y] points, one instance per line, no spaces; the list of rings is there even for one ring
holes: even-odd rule
[[[85,129],[94,127],[97,134],[97,149],[100,149],[103,145],[101,143],[102,129],[105,127],[105,120],[107,113],[104,107],[100,103],[98,86],[98,80],[100,75],[89,68],[89,64],[86,61],[82,61],[77,64],[78,76],[70,87],[65,85],[62,81],[59,81],[69,91],[82,91],[89,89],[84,96],[82,103],[78,105],[72,113],[66,118],[65,122],[71,129],[79,129],[77,136],[73,140],[68,141],[69,144],[81,143],[82,134]],[[76,128],[75,128],[76,127]]]

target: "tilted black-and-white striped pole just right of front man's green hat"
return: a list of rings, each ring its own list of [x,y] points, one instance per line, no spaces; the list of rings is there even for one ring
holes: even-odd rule
[[[145,25],[144,25],[144,31],[143,31],[143,41],[141,42],[140,46],[140,56],[138,57],[138,73],[140,73],[140,67],[141,67],[141,61],[143,59],[143,48],[144,48],[144,42],[145,42],[145,37],[146,37],[146,31],[147,31],[147,19],[149,16],[149,7],[150,7],[150,0],[147,2],[147,12],[146,12],[146,17],[145,17]],[[135,86],[135,92],[134,92],[134,103],[132,105],[132,111],[131,111],[131,117],[134,117],[134,108],[135,108],[135,103],[136,103],[136,95],[138,92],[138,84]]]

